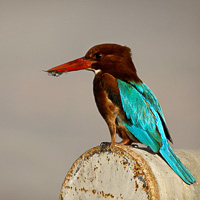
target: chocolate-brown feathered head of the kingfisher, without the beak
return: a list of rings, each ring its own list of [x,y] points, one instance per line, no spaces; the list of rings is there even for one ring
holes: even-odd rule
[[[99,58],[99,56],[101,57]],[[86,53],[85,59],[97,61],[92,64],[93,70],[100,69],[102,73],[111,74],[121,80],[141,81],[131,59],[131,50],[126,46],[118,44],[96,45]]]

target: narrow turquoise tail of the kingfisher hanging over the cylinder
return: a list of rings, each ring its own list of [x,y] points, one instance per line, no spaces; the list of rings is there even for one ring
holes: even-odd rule
[[[180,176],[187,184],[196,182],[194,176],[190,171],[181,163],[181,161],[174,154],[172,148],[168,145],[167,148],[160,149],[162,157],[170,165],[170,167]]]

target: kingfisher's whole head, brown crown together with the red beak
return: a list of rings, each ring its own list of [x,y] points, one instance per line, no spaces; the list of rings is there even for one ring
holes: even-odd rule
[[[52,75],[81,69],[95,73],[109,73],[121,80],[140,81],[131,59],[131,50],[118,44],[100,44],[92,47],[84,57],[47,70]]]

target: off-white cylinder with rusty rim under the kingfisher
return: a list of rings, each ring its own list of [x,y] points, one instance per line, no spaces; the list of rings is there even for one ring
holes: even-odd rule
[[[94,147],[67,173],[60,200],[200,199],[200,151],[175,150],[197,179],[187,185],[157,154],[147,148]]]

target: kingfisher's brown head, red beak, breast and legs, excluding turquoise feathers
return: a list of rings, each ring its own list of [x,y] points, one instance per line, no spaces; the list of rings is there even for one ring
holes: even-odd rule
[[[129,138],[126,127],[118,120],[119,117],[128,121],[122,109],[116,79],[142,82],[137,76],[130,48],[109,43],[96,45],[83,58],[54,67],[47,72],[60,75],[63,72],[79,70],[80,65],[80,69],[92,70],[96,73],[93,81],[95,101],[100,114],[109,127],[111,147],[115,145],[116,133],[122,138],[122,144],[139,142],[134,136]],[[84,67],[82,68],[82,66]]]

